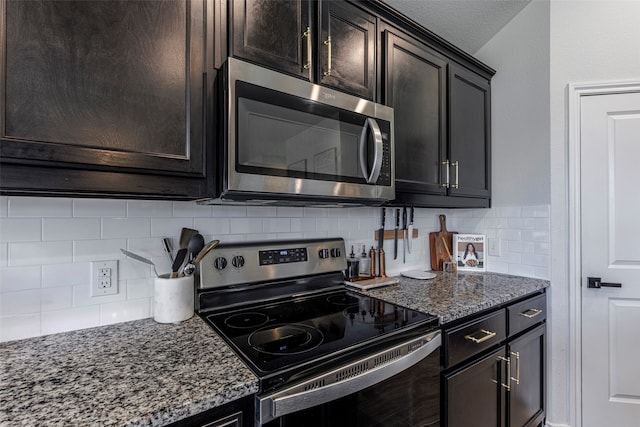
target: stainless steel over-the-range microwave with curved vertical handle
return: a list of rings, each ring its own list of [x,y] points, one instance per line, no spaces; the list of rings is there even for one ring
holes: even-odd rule
[[[204,203],[379,205],[395,198],[393,109],[229,58],[217,197]]]

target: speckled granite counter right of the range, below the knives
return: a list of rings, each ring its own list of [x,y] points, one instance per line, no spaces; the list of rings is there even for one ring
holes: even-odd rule
[[[445,324],[549,286],[547,280],[497,273],[442,273],[430,280],[401,277],[396,286],[367,293],[435,314]]]

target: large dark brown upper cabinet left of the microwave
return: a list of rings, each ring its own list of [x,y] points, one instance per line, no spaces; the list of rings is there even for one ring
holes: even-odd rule
[[[213,14],[209,0],[3,2],[3,192],[203,196]]]

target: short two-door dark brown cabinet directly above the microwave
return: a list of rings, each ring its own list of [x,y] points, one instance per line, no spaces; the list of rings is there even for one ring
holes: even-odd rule
[[[374,99],[376,18],[347,1],[235,0],[233,56]]]

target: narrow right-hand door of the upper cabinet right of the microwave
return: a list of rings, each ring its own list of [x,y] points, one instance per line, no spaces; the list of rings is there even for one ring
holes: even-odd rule
[[[449,65],[449,160],[455,196],[490,196],[491,99],[489,82]],[[457,163],[456,163],[457,162]]]

